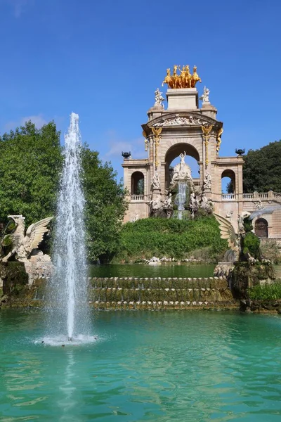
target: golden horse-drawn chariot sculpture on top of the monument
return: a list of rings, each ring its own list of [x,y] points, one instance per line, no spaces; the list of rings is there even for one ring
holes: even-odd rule
[[[180,74],[178,75],[177,70]],[[171,70],[166,70],[166,77],[162,82],[162,87],[167,84],[169,88],[194,88],[197,82],[202,82],[197,74],[197,67],[194,66],[193,73],[190,73],[189,65],[183,66],[174,65],[173,75]]]

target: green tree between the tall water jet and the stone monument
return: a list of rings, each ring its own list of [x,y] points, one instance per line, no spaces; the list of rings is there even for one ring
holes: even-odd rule
[[[125,191],[110,164],[103,163],[96,151],[84,146],[84,193],[89,260],[109,261],[119,245],[119,231],[126,211]]]

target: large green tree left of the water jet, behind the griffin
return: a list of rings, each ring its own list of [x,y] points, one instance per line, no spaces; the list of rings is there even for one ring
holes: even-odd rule
[[[22,214],[26,224],[55,212],[63,163],[55,123],[37,129],[32,122],[0,136],[0,223]]]

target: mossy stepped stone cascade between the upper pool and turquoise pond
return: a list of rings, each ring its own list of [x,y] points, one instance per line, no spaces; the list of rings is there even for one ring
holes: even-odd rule
[[[96,309],[190,309],[237,307],[223,277],[91,278],[90,303]]]

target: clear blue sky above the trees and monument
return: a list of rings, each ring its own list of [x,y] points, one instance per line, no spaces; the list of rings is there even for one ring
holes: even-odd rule
[[[122,177],[166,68],[197,65],[224,123],[221,155],[281,138],[280,1],[0,0],[0,133],[31,118],[83,141]]]

